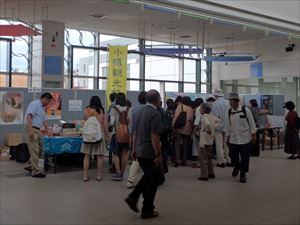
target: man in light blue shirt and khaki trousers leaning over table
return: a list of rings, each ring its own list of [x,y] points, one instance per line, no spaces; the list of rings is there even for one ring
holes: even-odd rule
[[[31,172],[31,176],[35,178],[46,177],[39,167],[38,161],[42,152],[42,134],[41,129],[48,130],[47,114],[45,107],[53,99],[50,93],[42,94],[40,99],[31,102],[25,113],[26,132],[25,139],[28,145],[30,159],[26,163],[24,169]]]

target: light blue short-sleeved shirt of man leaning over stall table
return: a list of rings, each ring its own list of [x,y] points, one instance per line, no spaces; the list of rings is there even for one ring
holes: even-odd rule
[[[37,99],[31,102],[26,109],[25,113],[25,121],[24,123],[27,124],[27,115],[31,114],[32,116],[32,126],[37,128],[43,127],[43,122],[47,120],[47,114],[45,108],[43,107],[41,100]]]

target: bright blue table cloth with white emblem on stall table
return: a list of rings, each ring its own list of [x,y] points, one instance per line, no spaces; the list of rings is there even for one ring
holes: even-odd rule
[[[47,154],[80,153],[82,137],[43,137],[43,149]]]

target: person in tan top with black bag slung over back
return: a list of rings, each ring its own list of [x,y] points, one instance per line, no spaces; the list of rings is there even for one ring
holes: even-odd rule
[[[194,111],[191,107],[190,97],[183,97],[175,111],[173,128],[175,130],[175,162],[174,167],[178,167],[180,155],[182,156],[181,166],[186,166],[188,148],[190,147],[191,135],[194,128]]]

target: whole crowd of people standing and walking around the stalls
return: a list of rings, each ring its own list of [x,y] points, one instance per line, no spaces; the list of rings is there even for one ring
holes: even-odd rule
[[[162,107],[161,97],[156,90],[140,92],[138,104],[131,106],[124,93],[110,95],[111,105],[105,113],[98,96],[90,99],[84,110],[84,120],[91,117],[99,123],[102,139],[95,143],[83,143],[83,181],[89,181],[89,163],[96,156],[98,173],[96,180],[103,179],[104,155],[112,152],[112,180],[122,181],[129,156],[132,163],[127,177],[127,187],[134,188],[125,199],[129,207],[138,212],[137,202],[143,195],[142,218],[158,216],[154,206],[157,187],[164,183],[168,165],[188,166],[189,159],[198,159],[192,167],[200,168],[199,180],[208,181],[216,177],[213,158],[220,168],[233,167],[232,176],[239,175],[241,183],[247,182],[250,156],[259,156],[261,134],[264,122],[255,99],[249,107],[240,104],[240,96],[230,93],[224,96],[221,89],[213,92],[214,97],[197,98],[178,96],[175,101],[168,99]],[[26,111],[26,140],[30,160],[25,169],[32,177],[45,177],[38,168],[41,149],[42,127],[47,128],[47,118],[43,107],[52,96],[45,93],[40,99],[30,103]],[[289,159],[300,157],[299,117],[291,101],[284,104],[289,112],[286,116],[284,151],[291,154]],[[264,124],[264,125],[262,125]],[[131,153],[131,155],[129,155]],[[139,169],[143,176],[136,181]]]

